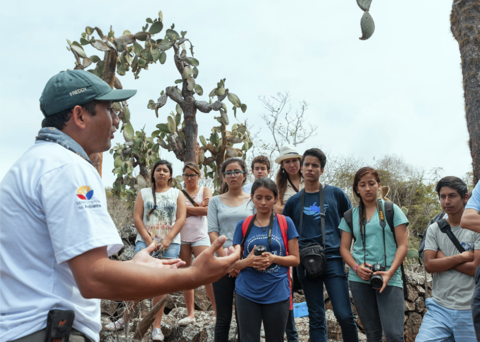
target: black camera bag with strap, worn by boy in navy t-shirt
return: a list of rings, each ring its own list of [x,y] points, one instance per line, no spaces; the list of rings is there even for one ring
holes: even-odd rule
[[[323,246],[310,242],[307,243],[300,251],[300,264],[305,272],[305,276],[310,279],[321,277],[325,272],[327,265],[327,257],[325,256],[325,213],[323,205],[323,185],[320,183],[318,191],[320,197],[320,224],[322,227]],[[298,242],[301,240],[301,228],[303,223],[303,205],[305,202],[305,189],[302,190],[300,201],[300,228]]]

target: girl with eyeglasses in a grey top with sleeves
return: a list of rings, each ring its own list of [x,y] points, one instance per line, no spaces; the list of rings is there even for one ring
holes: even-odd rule
[[[237,222],[256,212],[255,206],[249,201],[250,195],[242,190],[242,185],[247,179],[245,161],[242,158],[228,158],[222,164],[221,173],[224,177],[222,194],[210,199],[207,215],[210,242],[213,242],[219,235],[227,237],[223,246],[217,251],[219,257],[223,257],[223,248],[232,246]],[[239,271],[232,270],[212,284],[217,309],[215,342],[228,341],[235,279],[238,274]]]

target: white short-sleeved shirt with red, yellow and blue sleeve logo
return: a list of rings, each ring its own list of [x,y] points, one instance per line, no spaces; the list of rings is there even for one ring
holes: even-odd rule
[[[80,294],[67,261],[122,247],[96,169],[76,153],[36,141],[0,184],[0,338],[30,335],[48,311],[74,310],[73,328],[99,341],[100,300]]]

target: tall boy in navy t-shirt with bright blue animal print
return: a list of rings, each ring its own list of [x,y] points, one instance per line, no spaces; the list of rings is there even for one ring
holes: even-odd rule
[[[310,341],[327,341],[323,299],[323,284],[325,284],[335,317],[342,328],[343,341],[358,342],[357,325],[350,305],[345,263],[340,256],[342,235],[337,228],[344,212],[352,205],[340,188],[320,183],[326,160],[325,154],[318,148],[310,148],[303,153],[301,172],[305,187],[303,191],[288,199],[283,214],[290,217],[297,228],[300,235],[298,238],[300,251],[310,242],[323,245],[319,208],[319,188],[323,187],[326,269],[321,277],[311,280],[305,276],[301,261],[297,267],[298,279],[308,306]],[[300,207],[302,196],[304,196],[303,208]],[[302,227],[300,227],[300,215],[303,215]]]

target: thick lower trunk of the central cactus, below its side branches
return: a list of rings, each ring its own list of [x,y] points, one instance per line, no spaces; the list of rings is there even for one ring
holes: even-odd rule
[[[184,122],[185,122],[185,160],[184,162],[198,163],[198,151],[200,146],[198,145],[198,125],[196,123],[196,108],[193,105],[195,99],[193,96],[188,96],[184,101]]]

